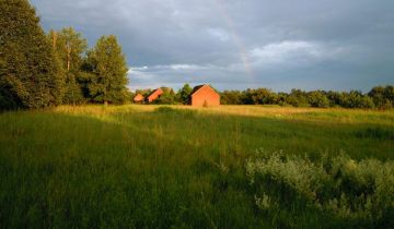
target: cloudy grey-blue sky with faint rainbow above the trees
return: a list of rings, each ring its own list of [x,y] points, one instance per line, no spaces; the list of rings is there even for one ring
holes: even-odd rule
[[[393,0],[31,0],[46,31],[116,35],[129,87],[394,84]]]

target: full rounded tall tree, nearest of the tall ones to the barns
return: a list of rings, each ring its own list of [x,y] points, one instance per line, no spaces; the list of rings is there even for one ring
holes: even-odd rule
[[[127,99],[127,64],[116,36],[102,36],[88,52],[85,70],[91,73],[89,94],[95,103],[120,104]]]

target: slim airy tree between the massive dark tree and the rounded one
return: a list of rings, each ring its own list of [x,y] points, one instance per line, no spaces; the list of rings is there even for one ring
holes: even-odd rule
[[[50,31],[48,36],[66,72],[63,103],[80,104],[83,101],[83,88],[85,87],[81,65],[83,55],[88,48],[88,41],[72,27],[66,27],[59,32]]]

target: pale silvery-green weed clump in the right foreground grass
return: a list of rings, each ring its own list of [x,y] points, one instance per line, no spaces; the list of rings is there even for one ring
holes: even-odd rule
[[[302,200],[343,220],[394,227],[393,161],[356,161],[345,154],[312,161],[258,150],[247,160],[246,174],[263,210],[289,208]]]

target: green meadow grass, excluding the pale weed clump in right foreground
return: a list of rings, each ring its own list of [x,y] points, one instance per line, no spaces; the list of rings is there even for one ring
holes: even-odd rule
[[[0,114],[1,225],[325,227],[321,222],[329,216],[308,208],[262,214],[245,179],[245,159],[262,147],[311,158],[340,150],[356,159],[394,157],[393,111],[177,108]]]

